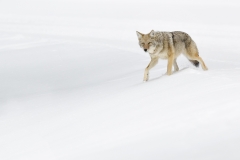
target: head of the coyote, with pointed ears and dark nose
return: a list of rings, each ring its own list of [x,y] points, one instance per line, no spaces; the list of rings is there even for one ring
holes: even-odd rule
[[[156,47],[156,42],[155,42],[155,39],[154,39],[154,37],[155,37],[154,30],[152,30],[148,34],[142,34],[142,33],[137,31],[137,36],[138,36],[138,40],[139,40],[139,45],[140,45],[141,48],[143,48],[143,50],[145,52],[147,52],[151,48]]]

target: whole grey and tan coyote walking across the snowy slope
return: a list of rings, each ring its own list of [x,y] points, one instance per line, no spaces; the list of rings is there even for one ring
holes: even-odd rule
[[[174,71],[178,71],[176,62],[177,57],[182,53],[196,67],[201,63],[203,70],[208,70],[202,58],[198,54],[196,43],[192,38],[184,32],[158,32],[152,30],[148,34],[142,34],[137,31],[139,45],[145,52],[148,52],[151,61],[145,69],[143,81],[148,81],[149,70],[153,68],[158,59],[167,59],[167,75],[172,74],[172,66]]]

